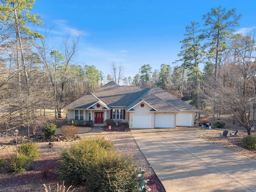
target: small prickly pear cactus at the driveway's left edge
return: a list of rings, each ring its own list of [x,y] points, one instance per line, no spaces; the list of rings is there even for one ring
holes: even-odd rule
[[[145,184],[149,181],[149,179],[144,179],[144,173],[141,167],[132,173],[132,192],[144,191]]]

